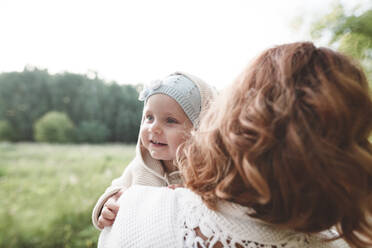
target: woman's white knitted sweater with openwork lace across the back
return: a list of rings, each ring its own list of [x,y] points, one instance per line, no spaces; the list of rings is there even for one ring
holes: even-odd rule
[[[132,186],[121,196],[112,227],[105,228],[98,248],[242,247],[346,248],[343,240],[324,241],[332,232],[308,235],[283,230],[249,217],[248,208],[220,202],[218,211],[185,188]]]

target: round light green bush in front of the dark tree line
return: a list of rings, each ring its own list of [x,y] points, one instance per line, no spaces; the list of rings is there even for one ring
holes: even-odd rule
[[[61,112],[48,112],[36,121],[34,137],[38,142],[68,143],[73,141],[74,124]]]

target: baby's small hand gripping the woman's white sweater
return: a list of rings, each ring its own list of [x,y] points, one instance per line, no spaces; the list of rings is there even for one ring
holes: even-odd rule
[[[124,189],[121,189],[116,194],[111,196],[103,205],[101,215],[98,218],[97,226],[103,229],[106,226],[111,226],[116,218],[119,211],[120,205],[118,204],[119,197],[123,194]]]

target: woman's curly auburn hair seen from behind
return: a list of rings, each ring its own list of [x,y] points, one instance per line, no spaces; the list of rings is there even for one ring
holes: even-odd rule
[[[372,101],[361,68],[302,42],[263,52],[222,93],[182,149],[186,187],[252,216],[314,233],[371,237]]]

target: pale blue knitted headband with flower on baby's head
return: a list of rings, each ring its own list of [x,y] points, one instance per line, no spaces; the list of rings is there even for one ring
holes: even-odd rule
[[[198,86],[188,77],[182,74],[171,74],[163,80],[153,81],[145,86],[138,99],[146,104],[148,98],[155,94],[165,94],[173,98],[192,124],[197,126],[202,101]]]

